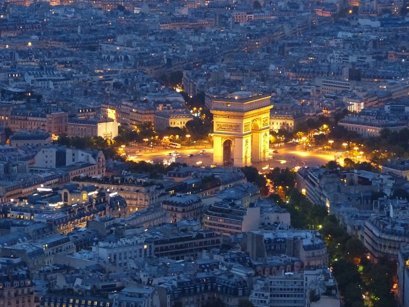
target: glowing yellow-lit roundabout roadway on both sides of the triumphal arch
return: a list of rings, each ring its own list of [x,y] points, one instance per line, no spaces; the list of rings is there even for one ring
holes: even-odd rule
[[[308,149],[308,147],[307,147]],[[175,160],[180,163],[187,163],[188,165],[211,165],[213,164],[213,148],[211,146],[190,146],[183,148],[163,149],[162,146],[153,148],[149,147],[131,147],[125,148],[126,155],[131,161],[169,161],[172,156],[169,153],[177,151],[179,157]],[[200,151],[205,150],[203,153]],[[277,151],[277,152],[273,152]],[[189,155],[193,155],[189,157]],[[336,156],[342,155],[342,152],[319,152],[316,150],[304,150],[303,145],[285,144],[282,147],[270,148],[271,158],[268,161],[261,163],[254,163],[253,165],[259,169],[268,165],[268,167],[296,167],[296,166],[321,166],[330,160],[334,160]],[[344,158],[342,155],[341,159]]]

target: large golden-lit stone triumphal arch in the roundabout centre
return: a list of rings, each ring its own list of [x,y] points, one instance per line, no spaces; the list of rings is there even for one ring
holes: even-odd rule
[[[236,92],[212,101],[215,164],[245,166],[268,159],[270,98]]]

